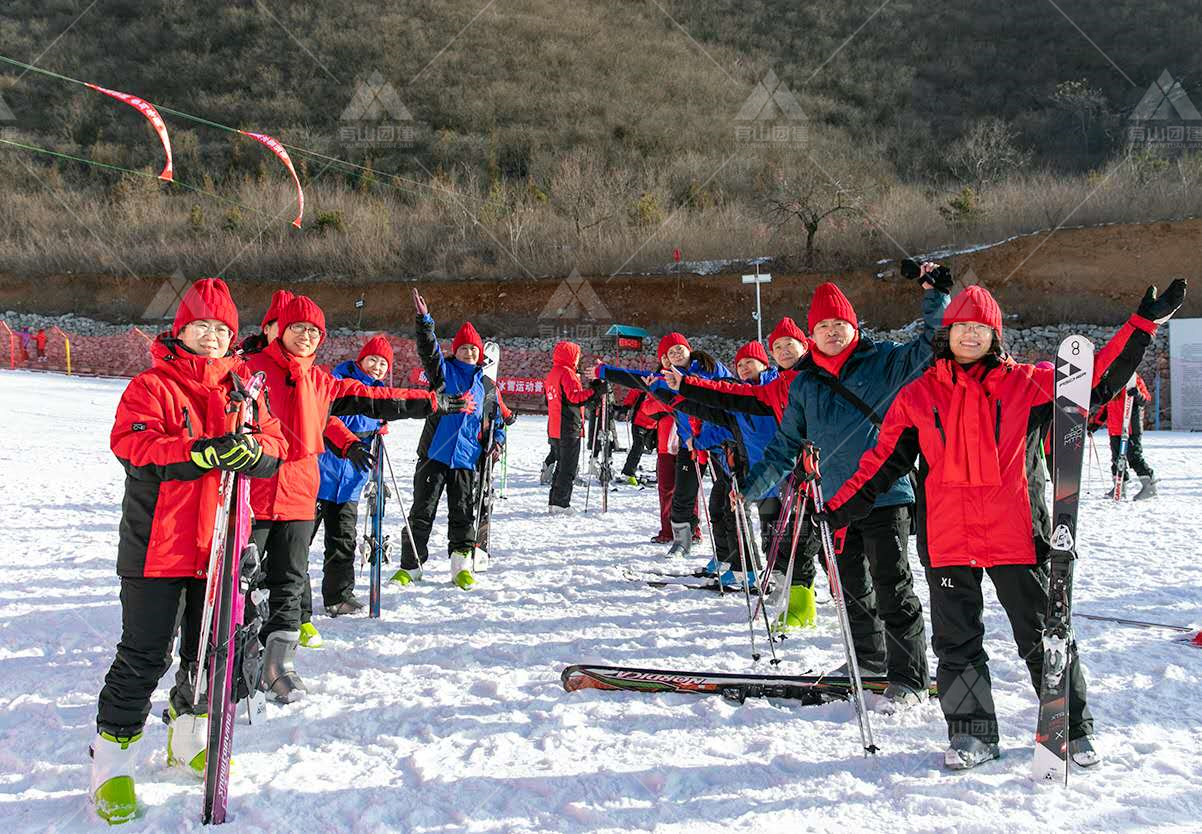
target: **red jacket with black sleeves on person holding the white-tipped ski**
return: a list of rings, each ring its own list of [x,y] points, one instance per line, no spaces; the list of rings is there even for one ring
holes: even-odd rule
[[[1093,403],[1126,385],[1155,330],[1153,322],[1131,316],[1099,351]],[[867,516],[876,495],[921,455],[916,512],[923,565],[1030,565],[1045,556],[1051,524],[1039,451],[1052,422],[1055,374],[1008,359],[969,367],[938,359],[902,389],[876,446],[829,500],[832,528]]]

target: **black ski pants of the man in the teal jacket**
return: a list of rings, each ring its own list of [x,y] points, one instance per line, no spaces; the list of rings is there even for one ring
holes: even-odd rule
[[[835,564],[859,665],[883,667],[889,683],[922,690],[930,683],[927,630],[909,543],[910,506],[876,507],[847,526]]]

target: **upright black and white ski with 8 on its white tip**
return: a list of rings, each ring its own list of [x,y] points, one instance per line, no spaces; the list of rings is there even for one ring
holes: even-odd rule
[[[1081,335],[1060,342],[1052,419],[1052,550],[1043,622],[1043,678],[1031,776],[1069,781],[1069,669],[1072,635],[1072,568],[1077,559],[1077,506],[1085,457],[1085,424],[1094,379],[1094,345]]]

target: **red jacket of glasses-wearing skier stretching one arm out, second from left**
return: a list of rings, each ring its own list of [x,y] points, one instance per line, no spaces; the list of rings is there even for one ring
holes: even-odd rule
[[[250,502],[255,522],[311,520],[321,476],[317,457],[332,437],[331,416],[367,415],[373,419],[428,417],[438,409],[433,391],[367,386],[334,379],[313,365],[313,357],[296,357],[276,339],[246,361],[251,371],[267,375],[267,398],[280,418],[288,453],[272,478],[254,481]],[[345,427],[343,427],[345,430]],[[337,445],[337,443],[335,443]]]

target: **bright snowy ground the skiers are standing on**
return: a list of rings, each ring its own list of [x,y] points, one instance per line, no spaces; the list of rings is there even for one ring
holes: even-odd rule
[[[123,387],[0,373],[0,815],[14,832],[101,824],[87,749],[120,621],[108,431]],[[418,428],[389,435],[403,481]],[[865,761],[846,704],[564,692],[560,669],[588,660],[750,671],[743,602],[624,580],[623,565],[664,565],[647,541],[654,493],[552,520],[542,418],[511,437],[481,588],[454,589],[432,560],[432,582],[386,591],[381,620],[319,618],[326,647],[298,661],[310,697],[238,725],[227,830],[1202,830],[1202,650],[1167,632],[1077,622],[1107,761],[1067,790],[1027,778],[1035,698],[992,600],[1004,758],[962,775],[940,768],[934,703],[874,715],[881,753]],[[1158,501],[1114,506],[1096,482],[1084,500],[1077,608],[1197,624],[1202,436],[1146,446]],[[316,580],[316,550],[311,565]],[[783,671],[833,666],[837,647],[827,606],[813,637],[783,647]],[[166,768],[161,723],[143,746],[144,810],[127,829],[200,827],[200,785]]]

